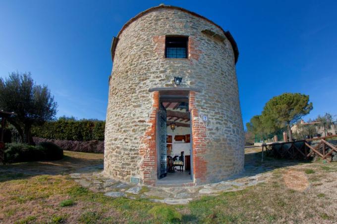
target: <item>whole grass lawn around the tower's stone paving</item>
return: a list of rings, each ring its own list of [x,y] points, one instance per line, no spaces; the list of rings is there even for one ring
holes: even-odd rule
[[[148,199],[111,198],[90,191],[69,177],[69,172],[76,167],[100,164],[102,159],[102,154],[65,151],[65,158],[57,162],[0,167],[0,223],[337,221],[337,164],[318,161],[278,168],[272,171],[272,178],[258,185],[218,196],[205,196],[187,205],[173,206]],[[17,167],[23,172],[10,172]],[[25,172],[25,168],[42,170],[42,173],[44,169],[54,170],[56,174],[33,175]]]

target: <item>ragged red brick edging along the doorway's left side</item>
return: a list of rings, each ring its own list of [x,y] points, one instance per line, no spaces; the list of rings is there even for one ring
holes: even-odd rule
[[[157,111],[159,109],[159,92],[153,92],[152,112],[149,116],[149,127],[146,129],[141,143],[144,145],[139,149],[139,155],[142,157],[140,172],[143,174],[143,183],[155,185],[157,181]]]

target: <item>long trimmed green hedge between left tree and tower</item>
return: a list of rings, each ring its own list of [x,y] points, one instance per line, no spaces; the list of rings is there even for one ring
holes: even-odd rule
[[[64,120],[46,122],[42,126],[32,128],[36,137],[58,140],[104,140],[105,121]]]

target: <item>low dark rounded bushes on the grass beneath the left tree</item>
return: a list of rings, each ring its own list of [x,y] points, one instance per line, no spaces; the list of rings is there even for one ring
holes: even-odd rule
[[[63,150],[52,142],[41,142],[36,146],[23,143],[5,144],[5,163],[59,160],[62,158]]]

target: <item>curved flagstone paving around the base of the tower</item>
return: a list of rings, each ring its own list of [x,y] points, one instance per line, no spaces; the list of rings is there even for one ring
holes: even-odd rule
[[[141,184],[121,182],[110,179],[102,174],[102,168],[87,167],[70,176],[84,187],[95,192],[103,192],[110,197],[149,198],[155,202],[167,204],[186,204],[203,195],[217,195],[222,192],[237,191],[247,186],[256,185],[271,177],[272,168],[256,164],[256,161],[246,162],[245,171],[231,179],[199,186],[144,186]]]

